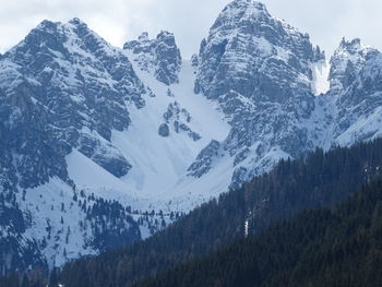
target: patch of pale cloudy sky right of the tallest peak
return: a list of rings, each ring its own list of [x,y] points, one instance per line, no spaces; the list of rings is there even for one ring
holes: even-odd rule
[[[382,50],[380,0],[264,0],[272,14],[307,32],[331,55],[343,37],[361,38]]]

